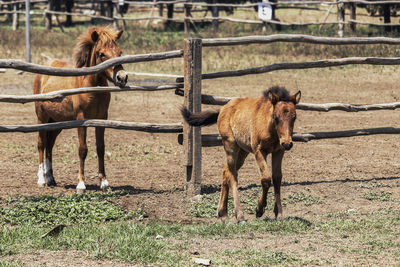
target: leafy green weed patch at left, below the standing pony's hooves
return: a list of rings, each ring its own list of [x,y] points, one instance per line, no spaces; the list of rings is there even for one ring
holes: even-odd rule
[[[70,225],[143,218],[142,210],[125,211],[112,201],[125,194],[120,191],[10,199],[0,207],[0,225]]]

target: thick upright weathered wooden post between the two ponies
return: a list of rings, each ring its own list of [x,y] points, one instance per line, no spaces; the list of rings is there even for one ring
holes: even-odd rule
[[[201,111],[201,50],[199,38],[184,40],[184,105],[192,112]],[[201,193],[201,129],[183,125],[186,196]]]

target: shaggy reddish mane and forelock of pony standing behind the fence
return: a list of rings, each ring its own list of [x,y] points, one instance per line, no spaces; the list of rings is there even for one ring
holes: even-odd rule
[[[110,26],[90,27],[86,32],[82,33],[78,38],[78,43],[74,48],[74,62],[77,68],[88,67],[90,62],[90,53],[95,45],[92,40],[92,33],[96,31],[98,34],[97,43],[101,46],[107,46],[115,41],[117,32]]]

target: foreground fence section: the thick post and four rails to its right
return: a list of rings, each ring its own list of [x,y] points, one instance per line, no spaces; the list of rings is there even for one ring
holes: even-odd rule
[[[322,68],[349,64],[371,64],[371,65],[400,65],[400,58],[372,58],[372,57],[351,57],[326,59],[310,62],[276,63],[257,68],[243,70],[232,70],[215,73],[202,73],[202,47],[223,46],[223,45],[245,45],[251,43],[271,42],[307,42],[326,45],[350,45],[350,44],[391,44],[398,45],[400,39],[396,38],[329,38],[307,35],[271,35],[271,36],[247,36],[237,38],[214,38],[214,39],[187,39],[185,40],[185,77],[179,77],[177,82],[185,82],[185,90],[177,88],[175,93],[185,97],[185,106],[192,112],[201,111],[202,104],[224,105],[233,98],[218,97],[201,94],[202,79],[216,79],[235,77],[243,75],[254,75],[283,69],[305,69]],[[186,52],[192,51],[190,53]],[[190,73],[190,75],[186,75]],[[190,81],[187,79],[190,78]],[[300,110],[324,111],[341,110],[346,112],[360,112],[367,110],[393,110],[400,108],[400,102],[387,104],[351,105],[342,103],[311,104],[300,103],[296,106]],[[311,132],[294,133],[293,141],[308,142],[316,139],[340,138],[372,134],[400,134],[400,128],[381,127],[370,129],[354,129],[348,131],[334,132]],[[186,164],[186,181],[188,193],[191,195],[200,193],[201,185],[201,148],[222,145],[221,136],[218,134],[202,135],[200,127],[190,127],[184,122],[183,134],[178,135],[178,142],[184,145],[184,157]]]

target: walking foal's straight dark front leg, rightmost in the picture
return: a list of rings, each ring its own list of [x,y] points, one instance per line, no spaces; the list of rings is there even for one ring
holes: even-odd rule
[[[272,153],[272,180],[274,184],[275,191],[275,206],[274,213],[275,219],[278,215],[282,217],[282,204],[281,204],[281,183],[282,183],[282,159],[285,152],[279,150]]]

